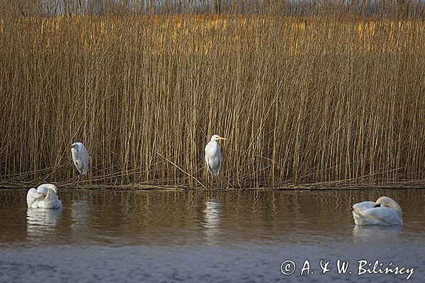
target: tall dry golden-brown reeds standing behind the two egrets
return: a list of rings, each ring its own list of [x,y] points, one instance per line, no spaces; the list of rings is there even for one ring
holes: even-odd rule
[[[425,23],[265,15],[4,17],[0,182],[423,185]]]

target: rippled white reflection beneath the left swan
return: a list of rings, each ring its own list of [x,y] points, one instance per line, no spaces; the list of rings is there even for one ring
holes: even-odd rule
[[[28,209],[27,236],[42,241],[42,236],[54,233],[60,222],[62,209]]]

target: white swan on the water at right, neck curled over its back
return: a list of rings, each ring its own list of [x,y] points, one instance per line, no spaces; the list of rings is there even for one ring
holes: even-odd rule
[[[380,197],[376,202],[359,202],[353,205],[356,225],[402,225],[402,208],[390,197]]]

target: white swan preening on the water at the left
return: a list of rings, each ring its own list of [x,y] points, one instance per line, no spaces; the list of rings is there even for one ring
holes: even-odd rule
[[[28,208],[62,208],[62,202],[57,197],[57,187],[52,184],[42,184],[37,190],[28,190]]]

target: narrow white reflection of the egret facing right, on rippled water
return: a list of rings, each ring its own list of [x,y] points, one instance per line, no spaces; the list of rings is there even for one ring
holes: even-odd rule
[[[208,245],[217,243],[217,236],[220,233],[220,216],[221,216],[221,204],[217,199],[209,199],[205,202],[204,209],[204,223],[205,236]]]

